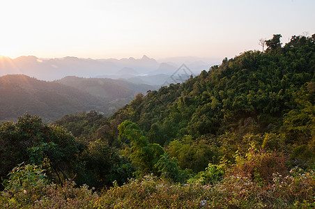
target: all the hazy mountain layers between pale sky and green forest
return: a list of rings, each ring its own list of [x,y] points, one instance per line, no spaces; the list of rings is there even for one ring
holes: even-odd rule
[[[182,61],[189,67],[186,75],[178,70]],[[15,120],[26,111],[47,122],[91,109],[109,115],[137,93],[184,82],[213,64],[214,60],[196,57],[156,61],[145,55],[96,60],[0,56],[0,121]]]

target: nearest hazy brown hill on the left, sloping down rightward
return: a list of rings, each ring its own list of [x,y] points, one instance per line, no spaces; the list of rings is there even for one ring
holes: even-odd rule
[[[99,109],[105,104],[105,101],[77,88],[26,75],[0,77],[0,98],[1,121],[22,116],[26,111],[52,121],[69,112]]]

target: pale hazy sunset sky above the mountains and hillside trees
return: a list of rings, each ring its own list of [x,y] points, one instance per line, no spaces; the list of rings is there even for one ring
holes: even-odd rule
[[[1,0],[0,54],[231,58],[315,33],[314,0]]]

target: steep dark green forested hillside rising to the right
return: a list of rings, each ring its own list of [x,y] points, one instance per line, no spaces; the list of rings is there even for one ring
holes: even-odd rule
[[[267,40],[266,52],[244,52],[183,84],[137,95],[110,118],[94,121],[99,129],[90,137],[119,144],[116,127],[128,120],[137,123],[151,143],[162,146],[174,140],[215,141],[226,133],[268,132],[284,134],[286,144],[306,144],[314,152],[315,36],[293,36],[283,47],[280,38]],[[75,116],[57,123],[74,129],[67,120],[80,123]],[[81,133],[77,127],[76,133]],[[248,142],[234,138],[229,137],[234,151]]]

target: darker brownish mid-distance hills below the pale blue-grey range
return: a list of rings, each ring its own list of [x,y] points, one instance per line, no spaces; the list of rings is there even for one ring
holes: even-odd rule
[[[15,121],[26,111],[45,122],[92,109],[105,115],[155,87],[118,79],[65,77],[46,82],[26,75],[0,77],[0,121]]]

